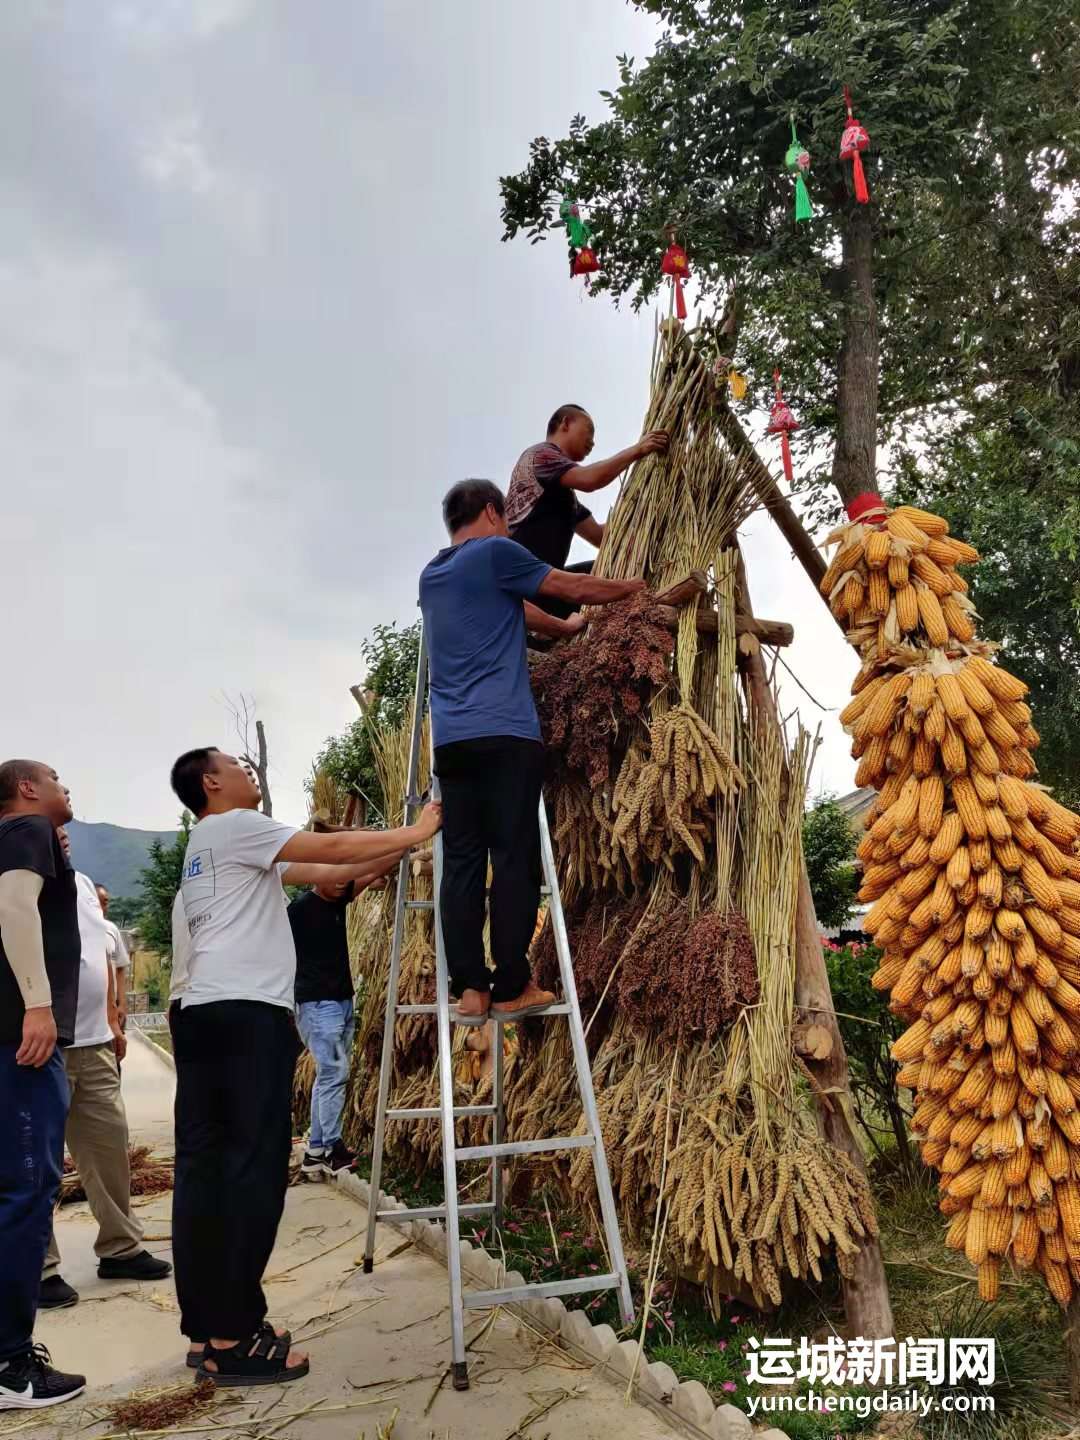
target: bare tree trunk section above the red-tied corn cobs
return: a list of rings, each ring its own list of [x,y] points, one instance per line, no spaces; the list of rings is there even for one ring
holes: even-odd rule
[[[842,238],[844,340],[837,386],[832,484],[848,504],[877,490],[877,305],[870,207],[852,207]]]

